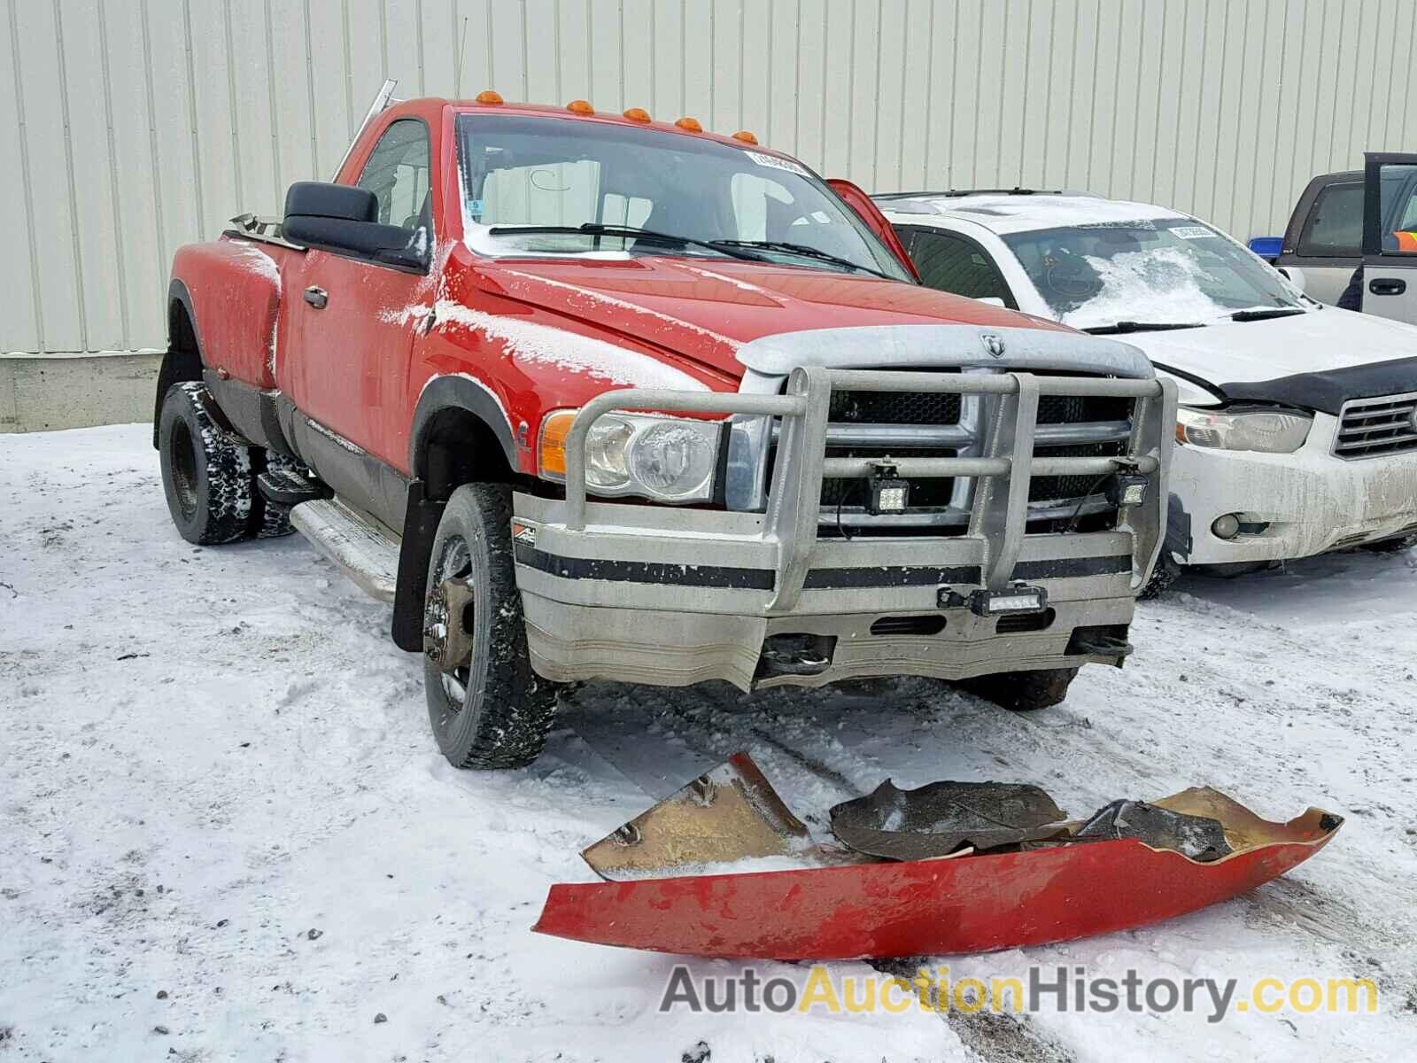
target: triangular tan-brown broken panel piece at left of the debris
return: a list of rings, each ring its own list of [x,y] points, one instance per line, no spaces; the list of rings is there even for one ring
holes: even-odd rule
[[[602,879],[686,874],[769,856],[805,856],[802,825],[747,753],[735,753],[643,815],[585,849]]]

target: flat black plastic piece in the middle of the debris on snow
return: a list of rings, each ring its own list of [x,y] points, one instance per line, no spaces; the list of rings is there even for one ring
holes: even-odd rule
[[[1019,782],[931,782],[900,789],[890,780],[832,809],[832,832],[857,852],[928,860],[964,846],[1051,838],[1067,814],[1039,787]]]

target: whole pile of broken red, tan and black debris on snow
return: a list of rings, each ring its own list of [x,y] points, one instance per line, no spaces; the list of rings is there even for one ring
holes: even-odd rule
[[[1318,852],[1342,816],[1261,819],[1199,787],[1070,819],[1039,787],[888,780],[812,838],[745,753],[585,849],[534,930],[764,960],[976,952],[1196,911]]]

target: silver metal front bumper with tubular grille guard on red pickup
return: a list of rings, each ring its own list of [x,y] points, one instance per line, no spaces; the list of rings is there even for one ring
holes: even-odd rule
[[[818,537],[823,476],[856,475],[856,462],[823,456],[833,387],[998,397],[986,455],[894,462],[905,478],[979,478],[966,534]],[[1040,394],[1139,398],[1129,454],[1034,458]],[[765,512],[589,502],[585,432],[612,410],[782,417]],[[785,395],[608,393],[587,404],[567,439],[565,500],[514,496],[516,573],[531,665],[564,682],[683,686],[724,679],[752,689],[1121,663],[1135,590],[1161,547],[1173,417],[1175,391],[1162,381],[1027,373],[808,367],[794,371]],[[1144,505],[1121,510],[1117,530],[1024,534],[1030,475],[1107,475],[1118,463],[1146,475],[1149,485]],[[1015,583],[1043,587],[1049,609],[1005,621],[947,604]],[[826,666],[811,673],[765,669],[764,648],[775,636],[815,638]]]

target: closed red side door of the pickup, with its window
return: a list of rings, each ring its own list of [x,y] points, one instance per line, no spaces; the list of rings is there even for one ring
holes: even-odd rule
[[[421,241],[425,262],[434,232],[429,159],[428,125],[400,118],[383,132],[357,181],[378,200],[378,221],[408,230],[411,247]],[[282,387],[315,422],[315,431],[323,429],[322,435],[336,444],[327,448],[313,441],[316,454],[329,451],[330,469],[316,461],[316,471],[340,492],[340,479],[367,482],[370,476],[367,468],[341,473],[341,465],[367,466],[373,456],[404,469],[408,456],[393,428],[404,408],[414,332],[432,306],[428,274],[312,249],[303,271],[290,281],[286,299],[295,315],[296,350],[285,360],[290,378]]]

